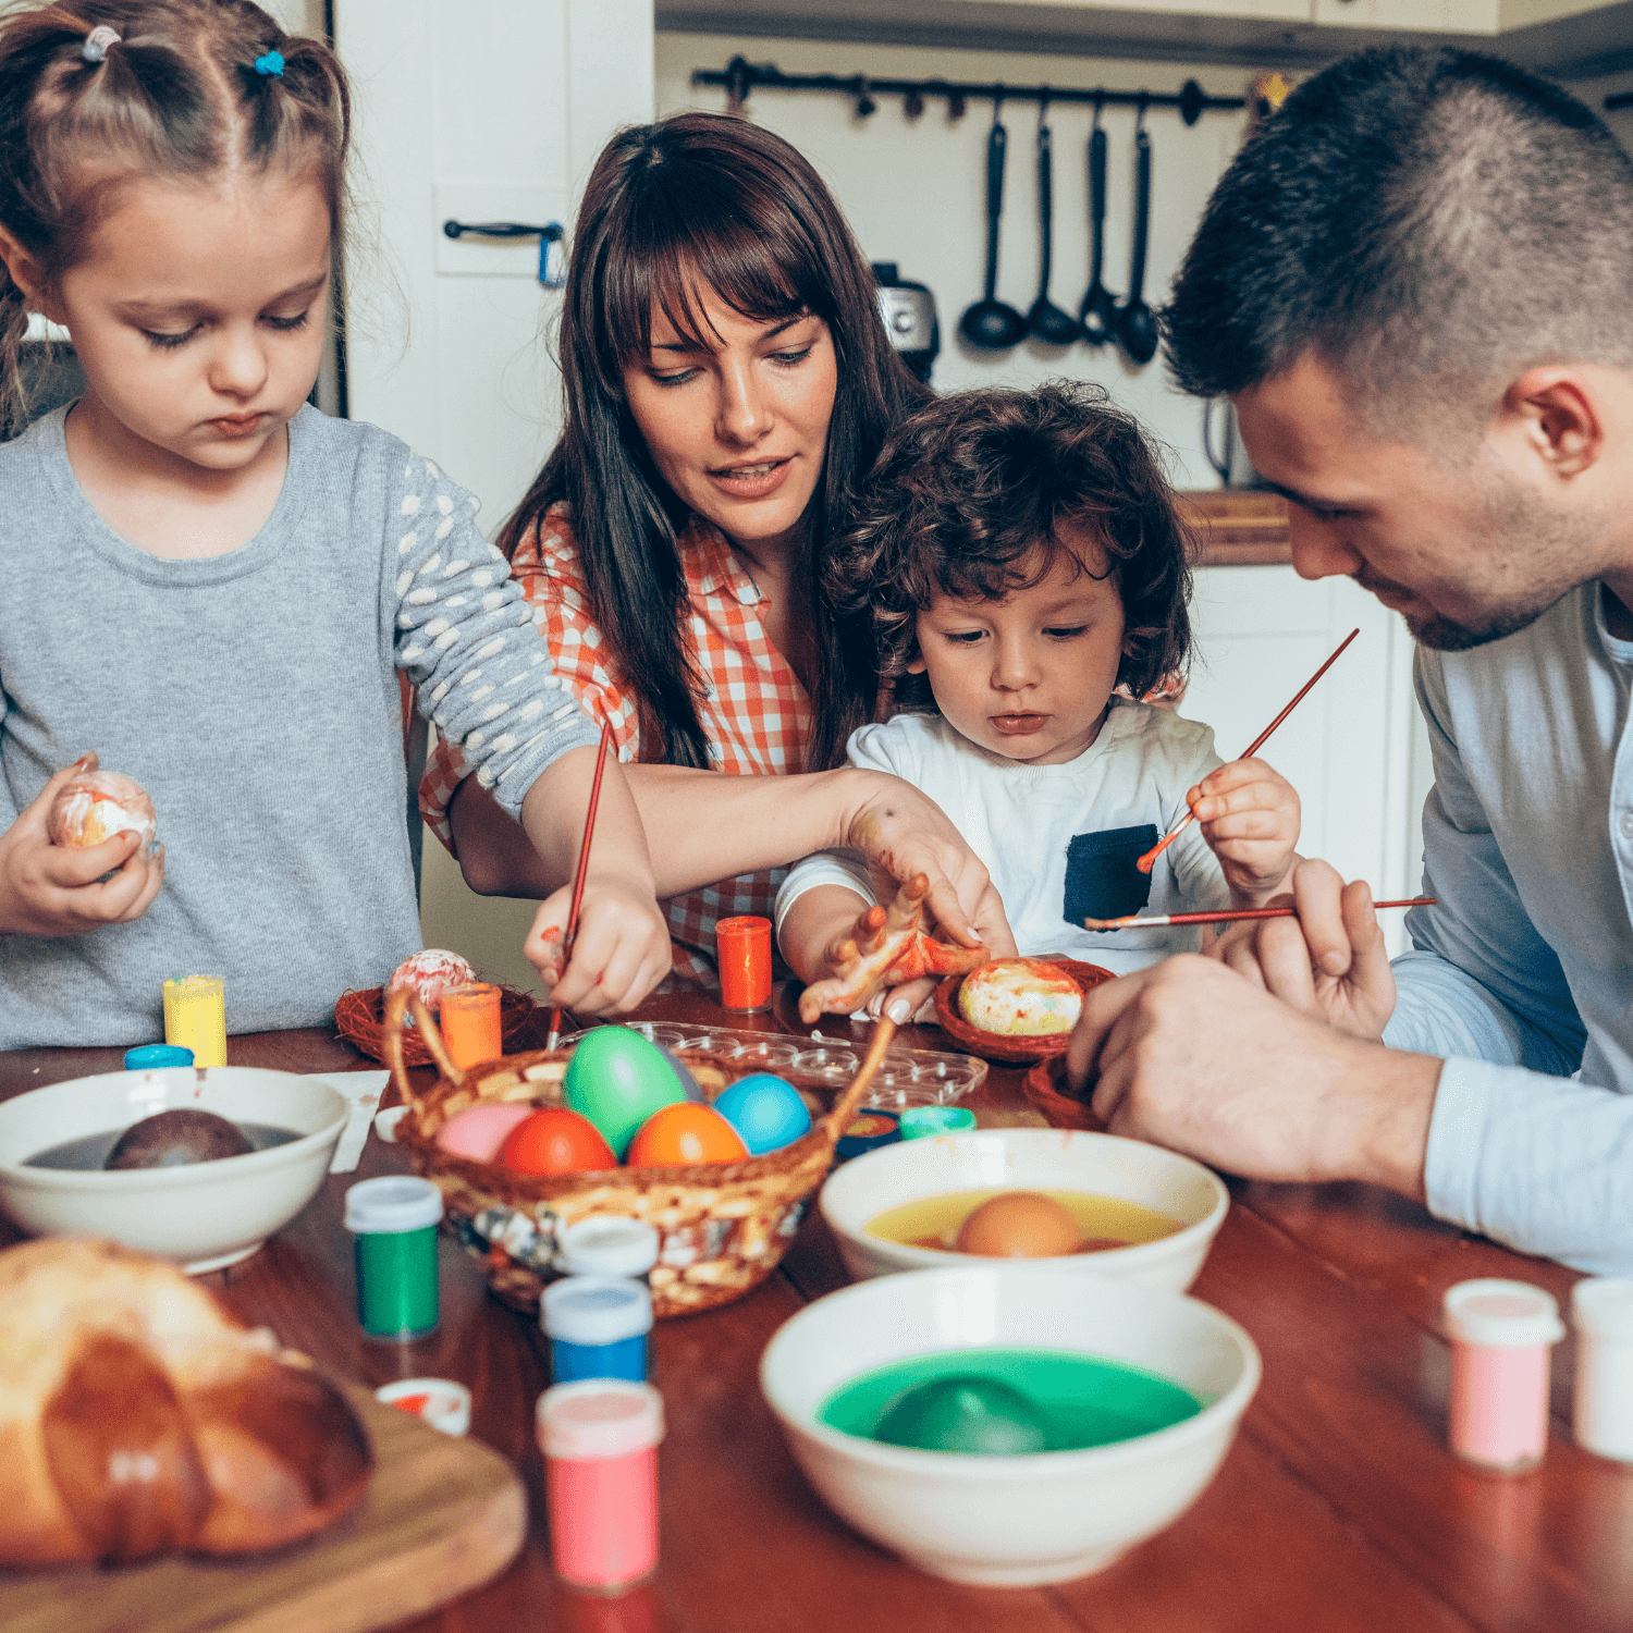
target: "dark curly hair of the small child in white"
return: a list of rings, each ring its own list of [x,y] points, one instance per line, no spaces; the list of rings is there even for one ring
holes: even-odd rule
[[[1190,661],[1190,537],[1138,423],[1099,385],[952,392],[892,433],[823,590],[841,617],[870,616],[879,674],[898,707],[934,707],[916,617],[936,594],[1001,601],[1048,576],[1061,523],[1091,529],[1122,591],[1135,697]],[[1079,563],[1083,572],[1089,563]]]

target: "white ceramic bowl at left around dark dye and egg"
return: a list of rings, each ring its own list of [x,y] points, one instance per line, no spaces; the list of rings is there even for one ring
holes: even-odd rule
[[[26,1168],[31,1156],[173,1107],[300,1135],[185,1168]],[[31,1236],[111,1236],[198,1275],[247,1259],[323,1182],[349,1107],[327,1083],[248,1066],[109,1071],[0,1104],[0,1207]]]

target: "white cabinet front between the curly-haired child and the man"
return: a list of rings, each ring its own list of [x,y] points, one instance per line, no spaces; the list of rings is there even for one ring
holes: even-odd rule
[[[1427,743],[1411,692],[1406,625],[1349,578],[1292,567],[1197,570],[1197,663],[1179,712],[1213,727],[1235,759],[1357,625],[1360,635],[1261,750],[1303,805],[1302,856],[1365,879],[1377,898],[1417,895],[1421,764]],[[1390,952],[1401,913],[1385,914]]]

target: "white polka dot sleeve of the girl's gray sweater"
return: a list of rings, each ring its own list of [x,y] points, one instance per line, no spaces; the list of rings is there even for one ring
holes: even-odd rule
[[[599,733],[555,676],[505,557],[477,531],[475,496],[418,456],[400,487],[397,665],[465,768],[519,818],[534,781]]]

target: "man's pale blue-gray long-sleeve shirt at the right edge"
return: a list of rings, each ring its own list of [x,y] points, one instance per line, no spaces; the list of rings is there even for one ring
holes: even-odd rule
[[[1429,1207],[1633,1272],[1633,643],[1597,583],[1530,629],[1417,653],[1435,785],[1385,1042],[1448,1058]]]

